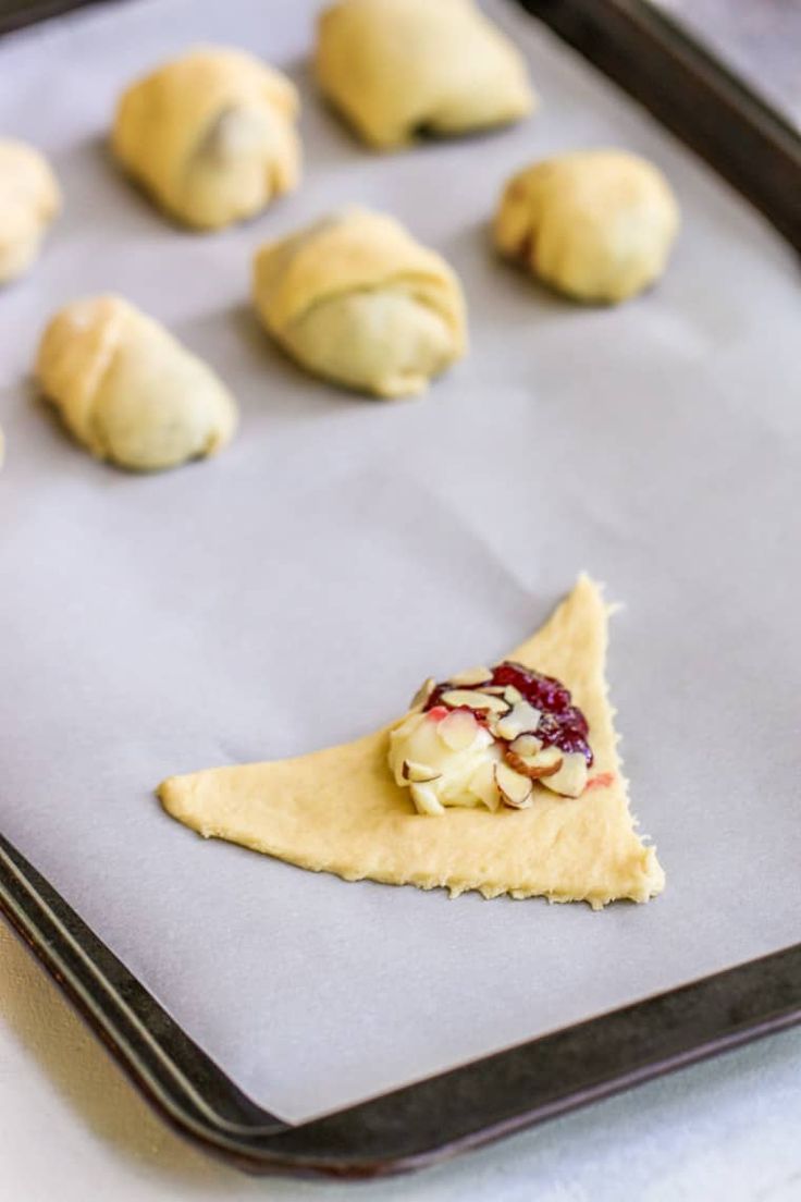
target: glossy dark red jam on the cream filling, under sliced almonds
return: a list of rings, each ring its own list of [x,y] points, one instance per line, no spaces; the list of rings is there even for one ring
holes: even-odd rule
[[[534,672],[532,668],[526,668],[522,664],[514,664],[512,660],[496,664],[491,671],[491,679],[483,680],[478,685],[470,685],[470,689],[480,690],[488,685],[513,685],[534,709],[540,712],[537,730],[531,733],[542,739],[544,746],[557,746],[564,752],[580,751],[587,761],[587,767],[592,764],[592,749],[587,742],[590,726],[578,706],[573,704],[570,690],[566,689],[561,680],[543,676],[542,672]],[[454,685],[449,680],[435,685],[423,708],[431,710],[438,707],[443,692],[455,688],[465,686]],[[443,707],[440,706],[440,708]],[[482,714],[476,710],[473,713],[482,721]]]

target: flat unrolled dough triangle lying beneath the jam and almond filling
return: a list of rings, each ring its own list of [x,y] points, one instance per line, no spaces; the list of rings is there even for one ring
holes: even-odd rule
[[[604,665],[609,607],[581,576],[549,621],[508,656],[555,676],[590,724],[590,786],[563,798],[537,786],[530,809],[414,811],[387,766],[388,732],[293,760],[171,776],[163,808],[205,838],[228,839],[313,871],[452,894],[647,902],[664,873],[636,834],[616,750]]]

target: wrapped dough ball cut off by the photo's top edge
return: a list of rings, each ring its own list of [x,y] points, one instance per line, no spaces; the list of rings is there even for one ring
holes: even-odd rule
[[[536,102],[522,56],[473,0],[340,0],[319,18],[316,72],[373,147],[516,121]]]

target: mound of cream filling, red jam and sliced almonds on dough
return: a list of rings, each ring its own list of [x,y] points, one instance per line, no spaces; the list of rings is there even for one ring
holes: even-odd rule
[[[590,728],[554,677],[504,660],[426,680],[389,737],[389,767],[419,814],[447,807],[526,809],[539,783],[562,797],[587,785]]]

